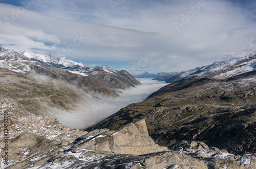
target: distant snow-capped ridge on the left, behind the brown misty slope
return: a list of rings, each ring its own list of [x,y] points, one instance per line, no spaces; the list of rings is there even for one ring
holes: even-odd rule
[[[1,46],[0,57],[4,59],[0,63],[0,67],[4,67],[22,74],[30,73],[32,69],[30,65],[44,65],[45,69],[46,67],[52,69],[61,68],[70,71],[72,74],[78,74],[97,79],[109,88],[126,89],[128,87],[140,85],[140,82],[137,81],[126,70],[117,71],[110,69],[106,65],[101,67],[90,67],[83,63],[76,63],[65,57],[56,58],[50,54],[34,54],[29,52],[20,54],[13,50],[6,50]],[[38,73],[40,73],[40,71]]]

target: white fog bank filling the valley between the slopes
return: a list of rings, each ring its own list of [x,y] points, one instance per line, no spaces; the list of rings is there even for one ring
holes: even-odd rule
[[[119,90],[121,93],[118,93],[120,95],[118,98],[103,98],[98,95],[97,99],[95,95],[80,92],[87,104],[78,104],[76,110],[72,111],[48,108],[45,115],[54,115],[63,125],[71,129],[86,129],[131,103],[143,101],[152,92],[167,85],[167,83],[153,81],[150,78],[137,80],[142,85]]]

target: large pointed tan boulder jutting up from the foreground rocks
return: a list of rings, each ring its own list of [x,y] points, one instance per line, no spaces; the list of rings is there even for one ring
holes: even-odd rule
[[[168,151],[166,147],[158,146],[148,136],[145,120],[127,124],[116,131],[105,131],[97,135],[87,134],[79,146],[81,149],[108,151],[115,154],[142,155],[154,152]]]

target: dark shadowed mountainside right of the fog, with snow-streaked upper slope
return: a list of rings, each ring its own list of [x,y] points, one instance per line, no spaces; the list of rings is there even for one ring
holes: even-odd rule
[[[87,131],[115,130],[144,118],[150,136],[170,149],[189,140],[234,154],[255,153],[255,103],[256,52],[203,66]]]

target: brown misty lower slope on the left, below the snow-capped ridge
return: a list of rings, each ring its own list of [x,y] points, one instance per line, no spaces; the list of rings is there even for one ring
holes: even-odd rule
[[[17,66],[21,62],[27,63],[12,63]],[[49,107],[75,110],[78,104],[87,104],[84,95],[100,93],[108,97],[118,96],[114,90],[91,77],[45,67],[38,62],[28,67],[32,70],[30,74],[0,67],[0,93],[15,99],[32,113],[42,114]]]

